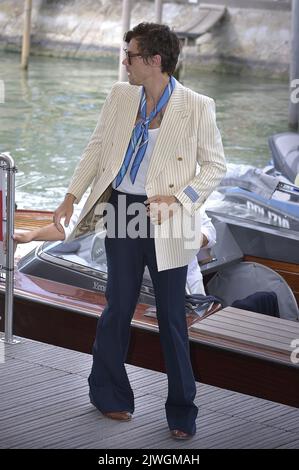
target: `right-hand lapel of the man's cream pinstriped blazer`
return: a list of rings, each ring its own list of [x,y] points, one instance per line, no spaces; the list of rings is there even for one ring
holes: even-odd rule
[[[163,171],[167,160],[175,155],[176,148],[184,136],[190,113],[185,102],[184,87],[176,82],[150,159],[147,182],[154,180]]]

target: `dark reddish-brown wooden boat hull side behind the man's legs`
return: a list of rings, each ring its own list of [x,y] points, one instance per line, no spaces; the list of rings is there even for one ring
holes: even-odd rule
[[[16,289],[14,334],[90,354],[97,320],[105,305],[104,296],[83,290],[77,292],[77,295],[81,294],[80,307],[73,300],[73,292],[70,292],[69,300],[65,296],[70,286],[60,285],[55,293],[55,283],[50,281],[46,291],[47,282],[42,280],[43,285],[39,284],[39,287],[48,292],[48,297],[43,297],[41,292],[30,293],[28,288],[26,291]],[[3,289],[0,291],[0,304],[3,311]],[[165,372],[157,322],[144,317],[146,308],[146,305],[139,304],[135,312],[126,362]],[[192,322],[191,319],[189,326]],[[1,330],[3,323],[2,318]],[[197,381],[299,407],[298,367],[289,364],[285,357],[276,354],[273,358],[270,352],[261,353],[249,346],[232,345],[217,335],[211,338],[190,332],[189,337]]]

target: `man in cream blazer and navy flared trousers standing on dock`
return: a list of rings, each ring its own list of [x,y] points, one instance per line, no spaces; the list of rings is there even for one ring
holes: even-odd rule
[[[175,33],[167,26],[141,23],[126,33],[125,41],[129,84],[116,83],[108,95],[53,221],[62,230],[65,217],[68,225],[74,203],[93,183],[68,238],[100,230],[105,221],[107,306],[98,321],[88,379],[92,404],[111,419],[131,419],[134,395],[124,361],[147,265],[168,375],[168,426],[172,437],[187,439],[196,432],[197,407],[184,297],[187,265],[201,239],[194,230],[190,241],[192,230],[185,235],[185,229],[193,226],[200,206],[223,177],[225,159],[213,100],[172,76],[179,56]],[[146,206],[144,213],[139,210],[142,234],[137,237],[130,235],[136,204]]]

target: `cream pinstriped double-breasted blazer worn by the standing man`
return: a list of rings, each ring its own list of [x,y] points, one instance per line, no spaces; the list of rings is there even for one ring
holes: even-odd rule
[[[116,83],[108,95],[67,191],[79,202],[92,185],[68,240],[93,231],[95,227],[100,229],[96,207],[109,199],[111,183],[120,170],[135,125],[140,96],[141,87],[123,82]],[[196,163],[200,165],[198,175]],[[187,265],[199,250],[200,232],[190,243],[191,238],[189,242],[186,240],[182,227],[194,220],[198,222],[200,206],[225,171],[214,101],[176,82],[151,156],[145,186],[148,197],[174,195],[182,204],[172,217],[171,233],[168,224],[155,225],[159,271]]]

